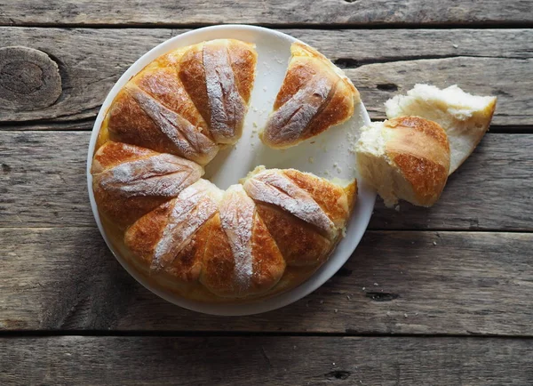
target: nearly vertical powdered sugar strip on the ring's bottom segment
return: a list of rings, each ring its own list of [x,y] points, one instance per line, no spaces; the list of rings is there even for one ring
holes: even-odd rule
[[[255,204],[242,185],[232,185],[220,205],[220,221],[235,258],[235,282],[242,291],[251,285],[253,274],[251,232]]]

